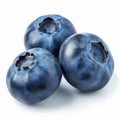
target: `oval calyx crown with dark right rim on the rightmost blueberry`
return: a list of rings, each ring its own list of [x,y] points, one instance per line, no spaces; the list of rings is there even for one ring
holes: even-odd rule
[[[104,63],[106,62],[106,59],[108,57],[108,51],[105,50],[105,48],[103,47],[101,42],[93,42],[92,43],[92,48],[91,48],[91,53],[92,53],[92,57],[100,62],[100,63]]]

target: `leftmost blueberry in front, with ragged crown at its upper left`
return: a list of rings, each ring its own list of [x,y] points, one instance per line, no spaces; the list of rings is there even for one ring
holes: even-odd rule
[[[17,100],[33,104],[52,95],[61,81],[58,60],[47,50],[33,48],[18,55],[7,73],[7,87]]]

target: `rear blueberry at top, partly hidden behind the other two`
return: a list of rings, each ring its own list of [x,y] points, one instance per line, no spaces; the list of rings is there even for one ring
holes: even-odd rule
[[[76,30],[68,19],[56,14],[44,15],[28,26],[24,36],[25,48],[42,47],[58,58],[62,42],[74,33]]]

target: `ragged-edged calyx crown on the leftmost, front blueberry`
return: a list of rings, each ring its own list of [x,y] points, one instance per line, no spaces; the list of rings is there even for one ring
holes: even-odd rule
[[[18,71],[28,70],[30,66],[34,64],[34,54],[33,53],[26,53],[24,56],[19,56],[18,61],[16,62],[16,67],[18,68]]]

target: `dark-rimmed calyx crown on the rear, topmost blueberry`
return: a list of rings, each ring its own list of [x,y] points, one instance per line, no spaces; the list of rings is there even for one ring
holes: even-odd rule
[[[39,24],[39,31],[52,34],[58,29],[58,24],[52,18],[46,18]]]

